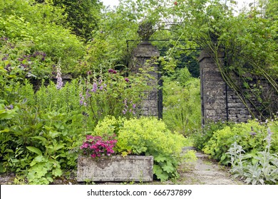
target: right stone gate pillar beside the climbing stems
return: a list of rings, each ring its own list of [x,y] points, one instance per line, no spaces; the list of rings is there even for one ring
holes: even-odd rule
[[[224,61],[224,56],[218,58]],[[202,124],[207,122],[226,121],[227,115],[227,85],[213,58],[202,51],[199,57]]]

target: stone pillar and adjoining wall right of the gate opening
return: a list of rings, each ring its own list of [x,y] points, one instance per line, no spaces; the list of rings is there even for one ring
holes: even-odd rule
[[[224,56],[220,55],[218,59],[223,62]],[[249,82],[247,82],[250,88],[247,89],[244,88],[240,77],[234,74],[233,80],[240,87],[240,92],[249,95],[250,100],[245,99],[247,109],[237,93],[223,80],[219,68],[210,55],[202,51],[199,63],[202,124],[205,124],[206,121],[247,122],[248,119],[251,119],[249,110],[254,114],[254,117],[263,120],[264,117],[269,117],[269,110],[272,110],[272,112],[278,111],[277,93],[268,84],[267,80],[254,75],[250,76]],[[261,100],[258,100],[258,97]],[[265,106],[266,99],[269,99],[269,97],[272,102]],[[262,103],[264,103],[264,106],[262,106]],[[259,112],[262,112],[262,114],[259,114]]]

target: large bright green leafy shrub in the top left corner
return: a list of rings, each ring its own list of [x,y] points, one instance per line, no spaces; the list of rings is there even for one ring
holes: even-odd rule
[[[50,75],[49,70],[53,63],[58,62],[58,58],[62,60],[63,72],[74,71],[78,58],[84,53],[83,43],[69,30],[58,25],[58,21],[63,19],[59,9],[48,4],[31,4],[31,1],[24,0],[0,1],[0,4],[3,10],[0,14],[0,38],[8,39],[4,47],[11,48],[9,53],[17,56],[11,56],[9,59],[12,65],[23,55],[42,51],[48,60],[32,62],[34,75],[37,72],[40,74],[38,77]],[[4,48],[2,45],[0,47]],[[25,61],[31,64],[31,60]],[[14,65],[14,68],[17,66]],[[36,71],[34,68],[40,70]]]

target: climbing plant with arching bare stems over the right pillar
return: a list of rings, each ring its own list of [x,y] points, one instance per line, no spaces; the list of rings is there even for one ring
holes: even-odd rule
[[[177,1],[173,6],[180,21],[177,28],[182,38],[195,38],[206,53],[214,58],[223,79],[247,106],[251,103],[257,111],[273,114],[271,95],[262,98],[258,75],[267,80],[273,92],[278,93],[277,79],[277,19],[274,17],[274,1],[251,7],[250,11],[235,14],[234,1]],[[265,3],[265,2],[264,2]],[[222,62],[219,57],[225,56]],[[237,80],[237,77],[239,79]],[[253,86],[253,87],[252,87]],[[242,88],[247,92],[242,92]],[[261,103],[256,104],[259,101]],[[252,110],[250,114],[254,117]]]

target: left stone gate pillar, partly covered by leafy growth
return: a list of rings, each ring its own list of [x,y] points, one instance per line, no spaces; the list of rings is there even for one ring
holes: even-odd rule
[[[158,107],[162,108],[158,106],[158,65],[151,63],[153,58],[158,58],[159,56],[158,48],[148,42],[140,43],[133,50],[133,60],[130,65],[131,72],[138,72],[139,68],[144,68],[149,63],[154,68],[154,71],[150,71],[149,74],[155,78],[148,80],[148,85],[153,87],[153,90],[146,93],[147,96],[140,105],[141,115],[143,116],[158,117],[159,112],[162,112],[162,110],[158,110]]]

